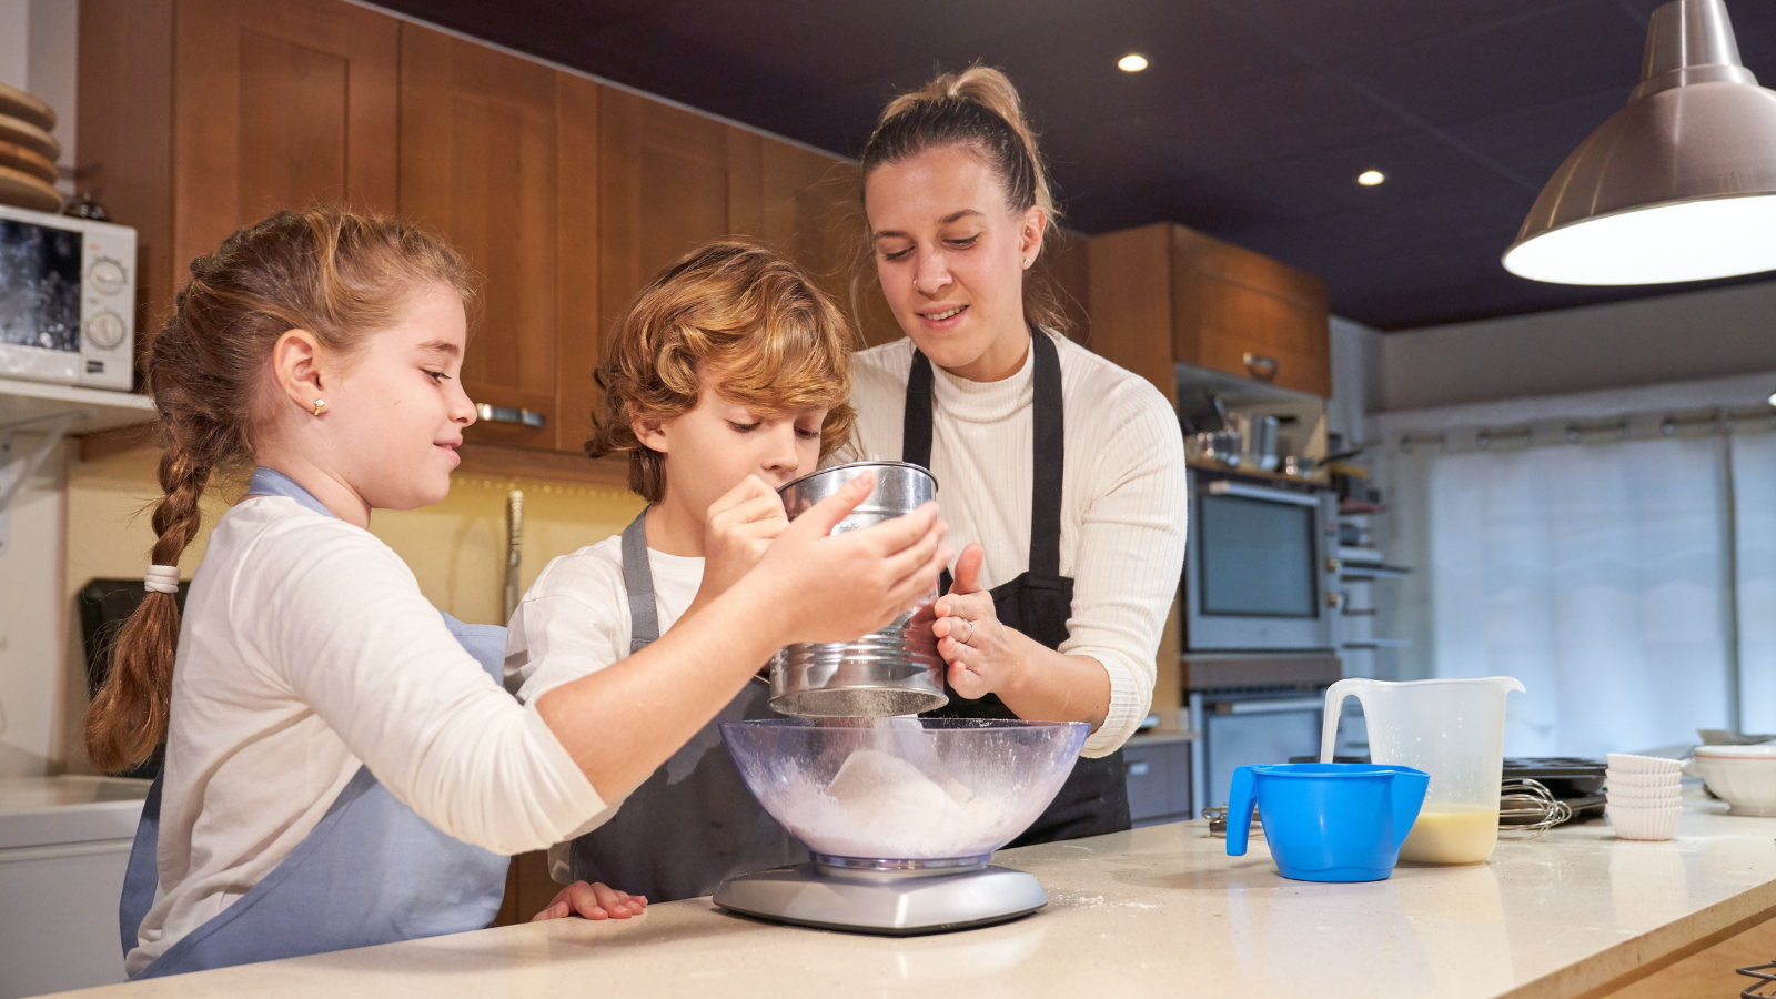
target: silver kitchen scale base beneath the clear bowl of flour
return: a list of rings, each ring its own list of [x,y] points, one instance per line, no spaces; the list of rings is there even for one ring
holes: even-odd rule
[[[742,915],[819,930],[916,937],[989,926],[1048,905],[1034,875],[961,860],[858,860],[815,855],[806,864],[730,878],[716,905]]]

